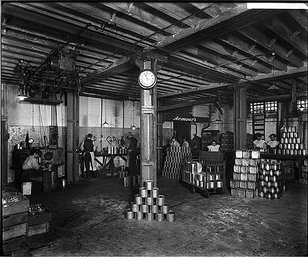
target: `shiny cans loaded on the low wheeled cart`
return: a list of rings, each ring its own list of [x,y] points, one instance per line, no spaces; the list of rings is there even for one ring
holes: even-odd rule
[[[181,180],[201,188],[222,188],[220,167],[207,166],[206,161],[187,162],[184,165]]]

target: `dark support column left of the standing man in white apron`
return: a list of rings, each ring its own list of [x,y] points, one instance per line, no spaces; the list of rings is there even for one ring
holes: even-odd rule
[[[76,183],[79,180],[79,94],[77,91],[66,95],[67,132],[66,132],[66,180]]]

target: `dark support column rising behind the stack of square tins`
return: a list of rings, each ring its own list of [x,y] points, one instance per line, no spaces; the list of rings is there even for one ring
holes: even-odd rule
[[[235,149],[246,149],[246,86],[234,88]]]

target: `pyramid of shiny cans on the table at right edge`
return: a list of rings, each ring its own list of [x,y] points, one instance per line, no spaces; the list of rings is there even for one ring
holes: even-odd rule
[[[274,154],[307,156],[305,143],[296,132],[296,127],[283,127],[279,149],[274,149]]]

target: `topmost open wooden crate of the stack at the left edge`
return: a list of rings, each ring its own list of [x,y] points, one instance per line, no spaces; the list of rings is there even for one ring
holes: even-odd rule
[[[12,215],[15,213],[27,212],[29,210],[29,199],[19,192],[3,192],[2,199],[7,197],[18,197],[18,201],[12,203],[3,203],[3,216]]]

